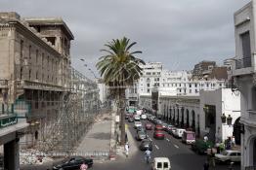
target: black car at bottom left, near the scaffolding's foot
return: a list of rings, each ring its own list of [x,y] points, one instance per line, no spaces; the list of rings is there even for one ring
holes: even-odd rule
[[[61,163],[54,165],[53,170],[79,169],[83,162],[85,162],[85,164],[87,164],[88,167],[93,166],[92,158],[85,158],[82,156],[72,156],[64,159]]]

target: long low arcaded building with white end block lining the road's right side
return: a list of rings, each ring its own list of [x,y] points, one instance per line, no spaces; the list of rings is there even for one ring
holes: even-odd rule
[[[159,93],[157,117],[180,127],[191,127],[197,135],[209,134],[211,141],[224,142],[235,136],[239,144],[240,94],[231,88],[199,92],[200,95],[162,95]],[[141,95],[140,105],[151,110],[152,98]],[[222,122],[223,114],[232,118],[232,123]],[[238,130],[238,131],[237,131]]]

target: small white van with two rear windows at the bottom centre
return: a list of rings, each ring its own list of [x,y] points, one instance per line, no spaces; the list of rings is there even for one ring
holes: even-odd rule
[[[151,167],[152,170],[170,170],[171,163],[168,157],[154,157]]]

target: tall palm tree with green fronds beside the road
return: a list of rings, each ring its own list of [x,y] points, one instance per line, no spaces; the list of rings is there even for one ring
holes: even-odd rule
[[[145,64],[142,59],[134,56],[142,51],[130,51],[136,42],[131,44],[129,42],[130,40],[126,37],[108,42],[105,45],[107,49],[101,50],[106,54],[100,57],[100,61],[96,64],[111,95],[118,104],[118,113],[121,115],[121,145],[125,143],[125,89],[140,79],[142,74],[140,64]]]

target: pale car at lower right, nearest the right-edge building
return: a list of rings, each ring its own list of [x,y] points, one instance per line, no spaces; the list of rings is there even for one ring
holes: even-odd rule
[[[239,151],[227,150],[223,153],[216,153],[214,158],[217,162],[223,163],[240,162],[241,153]]]

